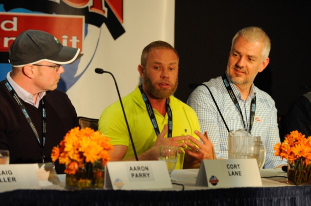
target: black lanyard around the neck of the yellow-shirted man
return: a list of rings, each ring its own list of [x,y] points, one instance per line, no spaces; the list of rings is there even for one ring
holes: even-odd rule
[[[143,99],[144,103],[146,104],[147,111],[148,111],[151,123],[153,125],[154,131],[156,131],[156,134],[158,136],[160,134],[160,129],[159,129],[159,126],[158,126],[158,122],[157,122],[156,116],[154,116],[154,112],[153,112],[151,103],[150,103],[148,97],[146,96],[146,94],[144,93],[141,84],[138,87],[139,87],[142,99]],[[171,110],[171,107],[170,107],[170,104],[169,104],[169,98],[167,98],[165,107],[166,107],[166,110],[167,110],[168,116],[169,116],[169,119],[168,119],[168,126],[169,126],[168,137],[172,137],[172,133],[173,133],[173,114],[172,114],[172,110]]]

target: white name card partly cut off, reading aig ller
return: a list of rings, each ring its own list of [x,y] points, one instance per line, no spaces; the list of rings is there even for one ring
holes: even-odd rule
[[[0,192],[59,183],[52,163],[0,164]]]

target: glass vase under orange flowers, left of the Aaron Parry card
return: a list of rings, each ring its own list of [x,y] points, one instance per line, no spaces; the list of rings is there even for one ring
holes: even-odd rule
[[[75,174],[66,174],[66,187],[70,189],[103,188],[104,167],[101,162],[86,163]]]

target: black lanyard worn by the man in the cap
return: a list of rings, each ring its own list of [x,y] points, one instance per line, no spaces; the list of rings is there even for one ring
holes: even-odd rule
[[[38,143],[41,147],[41,158],[42,158],[42,162],[44,162],[44,144],[45,144],[45,136],[46,136],[46,112],[45,112],[45,105],[44,105],[44,101],[42,99],[42,143],[40,141],[40,137],[38,134],[38,131],[35,127],[34,122],[31,120],[30,115],[28,114],[26,107],[24,105],[24,103],[22,102],[22,100],[20,99],[20,97],[17,95],[16,91],[14,90],[14,88],[11,86],[11,84],[9,83],[8,79],[6,78],[4,81],[8,91],[10,92],[10,94],[12,95],[12,97],[16,100],[17,104],[20,106],[22,112],[24,113],[25,118],[27,119],[30,127],[32,128]]]

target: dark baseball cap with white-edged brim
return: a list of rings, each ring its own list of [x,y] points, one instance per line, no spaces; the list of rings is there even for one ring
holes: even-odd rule
[[[80,49],[62,45],[52,34],[27,30],[16,37],[9,49],[9,61],[14,67],[49,61],[66,64],[74,61]]]

